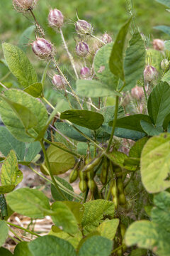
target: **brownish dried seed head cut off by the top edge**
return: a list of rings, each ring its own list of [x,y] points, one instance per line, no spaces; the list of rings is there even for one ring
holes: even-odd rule
[[[13,6],[18,12],[25,13],[26,11],[33,10],[38,0],[13,0]]]

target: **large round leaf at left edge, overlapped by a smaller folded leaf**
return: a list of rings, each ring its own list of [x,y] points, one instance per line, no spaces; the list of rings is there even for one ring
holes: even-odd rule
[[[43,127],[45,127],[47,122],[47,110],[45,109],[45,106],[42,105],[39,100],[21,90],[10,89],[6,91],[4,95],[8,100],[17,102],[19,105],[26,107],[26,109],[35,115],[38,125],[36,125],[34,129],[28,129],[28,133],[31,136],[36,137]],[[13,134],[13,137],[21,140],[21,142],[34,141],[34,139],[26,133],[26,129],[21,120],[18,118],[16,112],[13,112],[13,109],[11,109],[8,103],[6,103],[6,101],[3,99],[0,100],[0,114],[2,121],[6,125],[9,132]]]

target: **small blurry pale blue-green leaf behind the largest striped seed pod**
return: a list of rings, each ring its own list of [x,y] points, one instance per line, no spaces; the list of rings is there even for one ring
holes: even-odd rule
[[[21,37],[19,38],[18,47],[21,48],[21,50],[23,50],[24,52],[26,52],[26,50],[28,48],[28,42],[29,42],[30,36],[34,30],[35,30],[34,25],[26,28],[26,30],[23,31]]]

